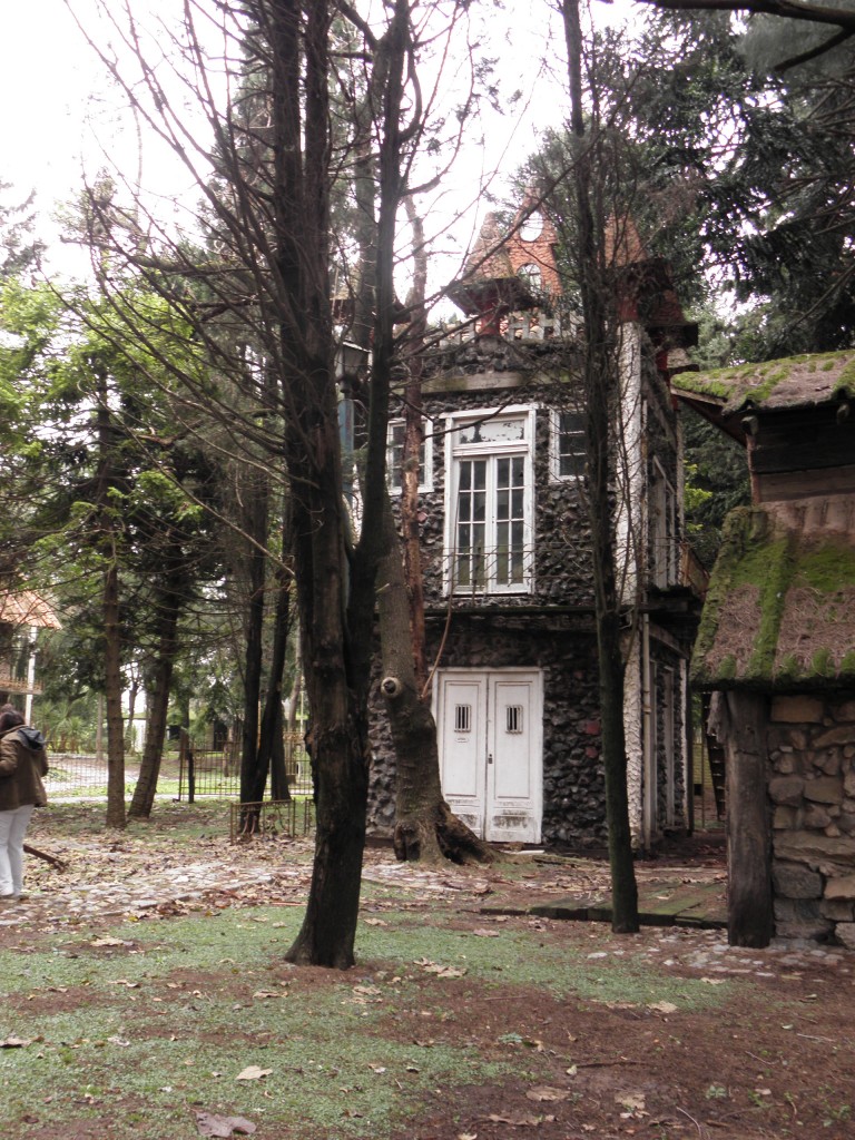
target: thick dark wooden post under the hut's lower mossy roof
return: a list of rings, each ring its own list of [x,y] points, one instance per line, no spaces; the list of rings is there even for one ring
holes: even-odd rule
[[[768,946],[774,918],[766,698],[730,692],[727,714],[727,940]]]

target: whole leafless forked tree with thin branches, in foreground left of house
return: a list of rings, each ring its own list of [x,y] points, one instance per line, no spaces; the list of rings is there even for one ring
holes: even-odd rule
[[[405,193],[413,190],[409,176],[425,130],[413,6],[409,0],[390,3],[386,28],[376,35],[347,3],[247,0],[239,9],[214,10],[190,0],[180,46],[193,82],[186,80],[184,96],[204,113],[210,146],[198,117],[182,115],[176,91],[163,85],[163,68],[146,59],[133,6],[124,0],[101,7],[136,58],[136,74],[95,44],[101,62],[148,129],[186,164],[205,199],[205,212],[195,219],[206,235],[203,251],[172,238],[149,214],[147,239],[135,235],[125,247],[114,242],[112,255],[123,255],[169,298],[174,324],[204,349],[204,368],[174,377],[186,393],[188,420],[190,413],[204,412],[217,425],[221,447],[239,451],[250,442],[253,454],[270,457],[267,464],[258,462],[287,482],[287,532],[311,717],[307,744],[317,800],[309,902],[287,956],[347,968],[353,962],[365,840],[368,678],[375,577],[384,549],[386,421],[399,312],[397,220]],[[449,6],[449,27],[464,7]],[[373,361],[355,543],[342,495],[329,279],[332,194],[336,178],[349,169],[356,133],[345,129],[342,145],[331,104],[337,76],[334,21],[340,17],[364,41],[356,55],[369,75],[367,138],[377,177]],[[227,76],[239,80],[225,100],[204,47],[213,21],[227,43]],[[355,58],[351,51],[344,56]],[[238,60],[237,73],[233,59]],[[139,314],[115,300],[135,335],[153,341]],[[263,393],[252,390],[252,369],[249,377],[242,375],[246,369],[238,345],[249,347],[272,378]],[[229,398],[235,391],[229,385],[245,393],[245,402]],[[284,466],[275,458],[284,459]],[[252,540],[260,538],[253,535]]]

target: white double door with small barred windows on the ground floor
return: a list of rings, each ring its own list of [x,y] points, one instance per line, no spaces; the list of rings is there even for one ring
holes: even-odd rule
[[[539,842],[543,674],[445,669],[435,690],[442,793],[490,842]]]

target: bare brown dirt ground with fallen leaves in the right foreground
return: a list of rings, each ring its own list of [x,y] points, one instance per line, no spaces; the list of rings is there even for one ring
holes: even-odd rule
[[[580,866],[579,896],[595,895],[605,862]],[[575,879],[555,872],[556,864],[534,861],[529,878],[496,883],[484,907],[522,914]],[[637,877],[640,883],[723,881],[723,837],[675,842],[660,858],[638,864]],[[521,1068],[534,1048],[549,1059],[552,1076],[535,1089],[522,1078],[469,1089],[458,1105],[438,1104],[416,1133],[399,1140],[855,1137],[855,954],[808,946],[728,948],[726,935],[710,930],[646,927],[619,937],[603,923],[508,920],[526,922],[540,939],[587,943],[604,963],[613,955],[645,963],[656,958],[670,977],[744,985],[723,1009],[701,1013],[669,1010],[667,1003],[556,1001],[543,988],[504,992],[500,1010],[489,997],[461,1000],[455,1035],[471,1040],[482,1056],[498,1057],[500,1027],[512,1025],[523,1042]],[[473,933],[483,927],[482,912],[455,921]]]

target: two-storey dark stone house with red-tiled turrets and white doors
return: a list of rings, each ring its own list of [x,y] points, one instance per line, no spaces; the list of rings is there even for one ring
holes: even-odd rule
[[[575,332],[561,312],[554,233],[538,213],[518,223],[503,239],[487,220],[469,271],[449,290],[474,319],[446,336],[423,384],[420,507],[442,790],[489,841],[598,846],[605,806]],[[692,822],[689,657],[699,604],[669,380],[694,326],[659,262],[625,268],[616,531],[630,822],[649,848]],[[401,435],[393,418],[392,488]],[[369,815],[378,831],[394,815],[382,722]]]

